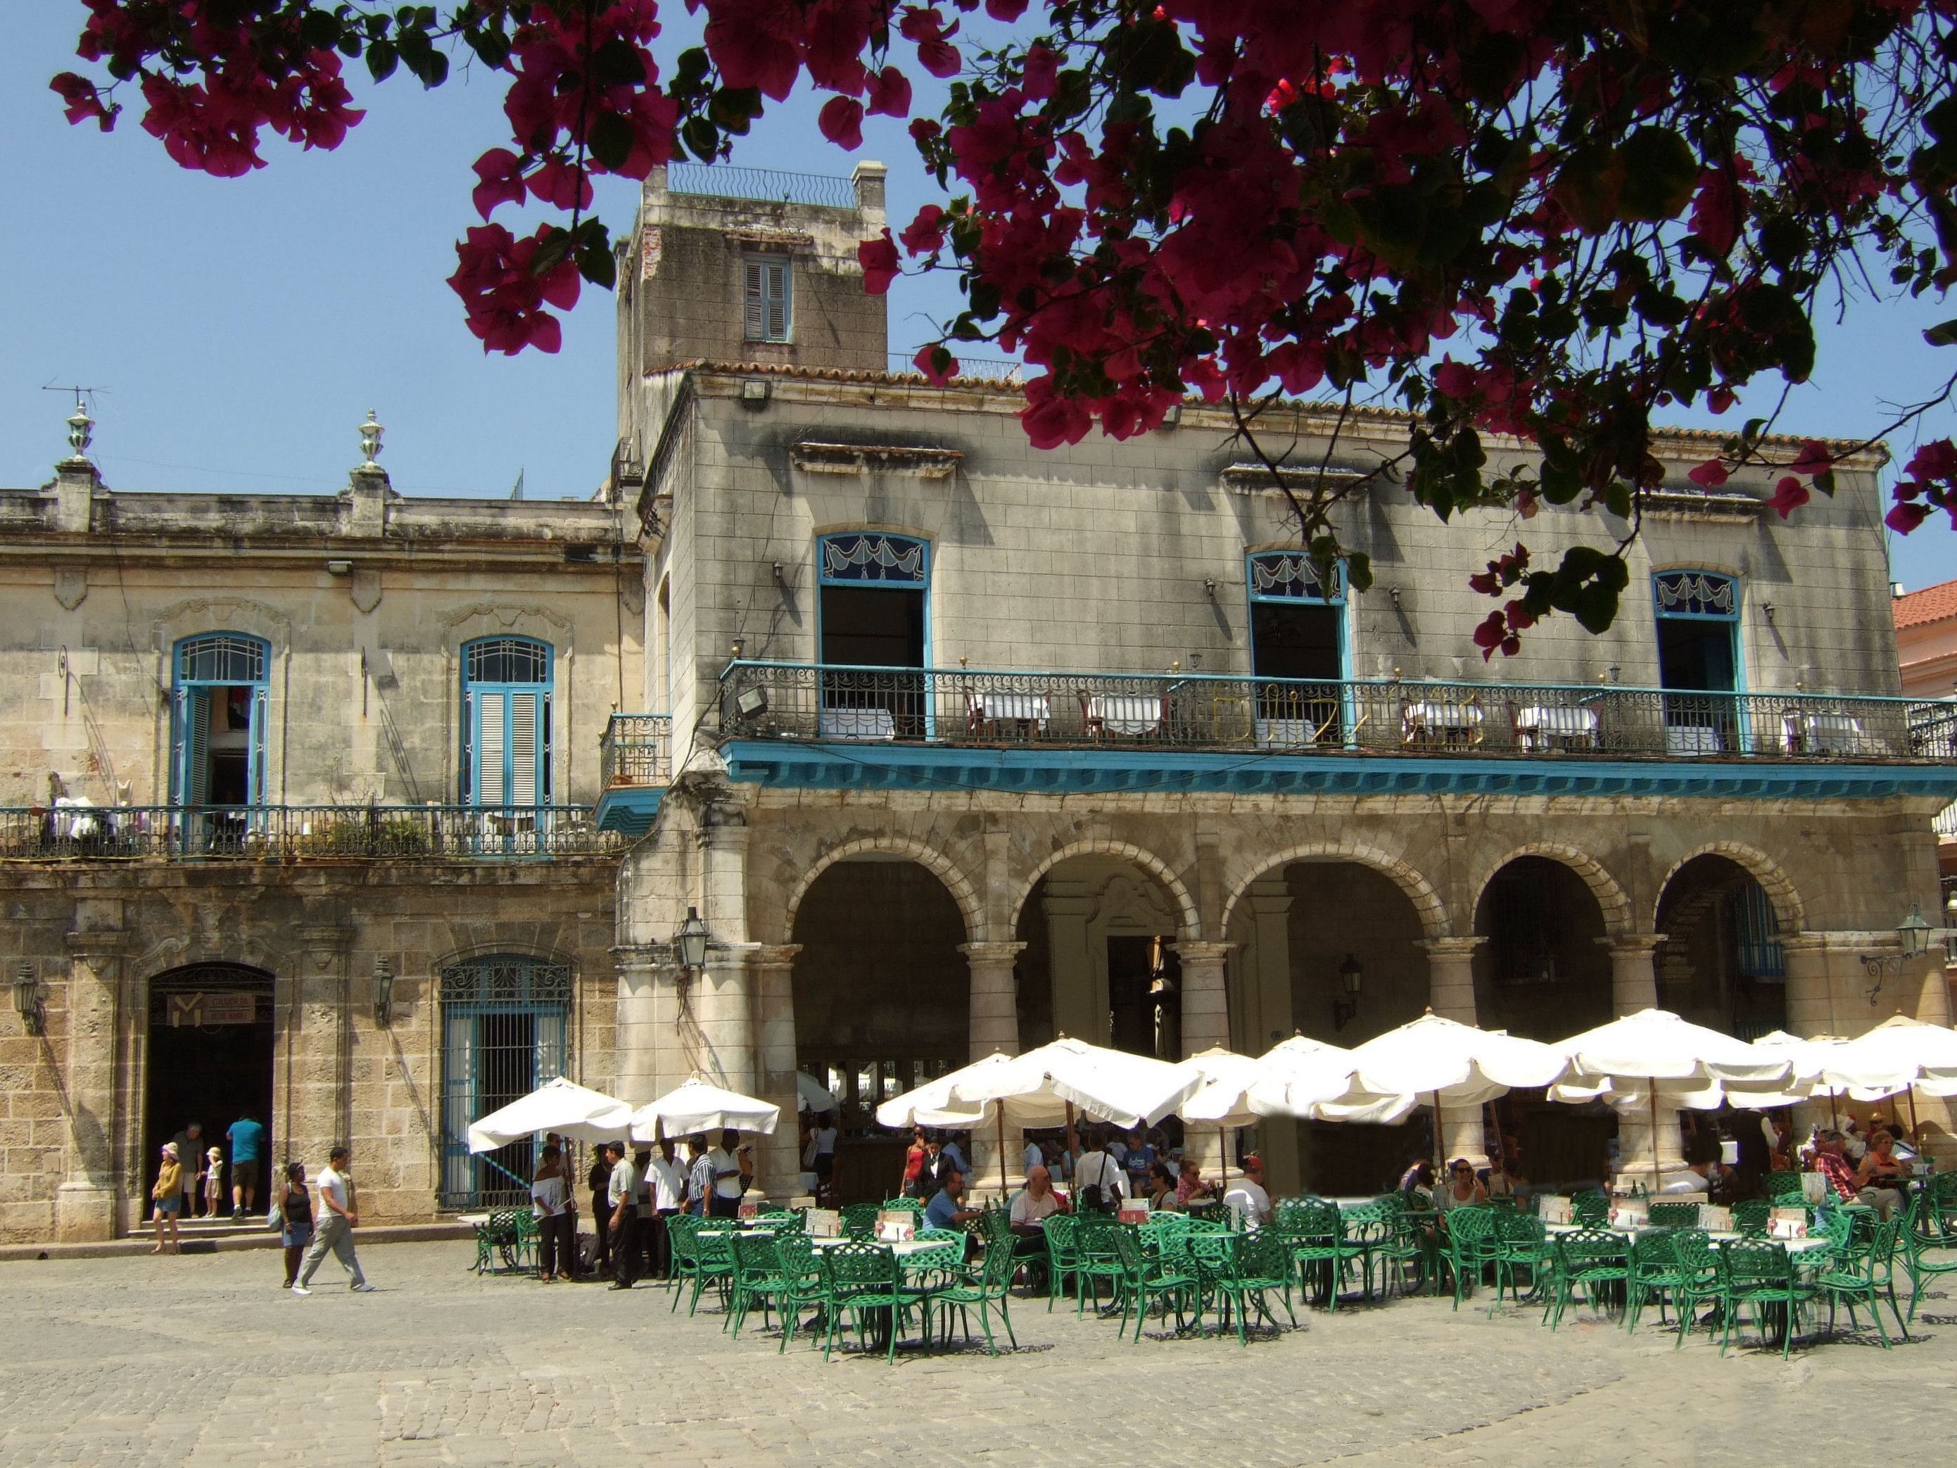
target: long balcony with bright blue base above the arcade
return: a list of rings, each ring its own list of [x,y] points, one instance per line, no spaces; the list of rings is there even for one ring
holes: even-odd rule
[[[720,732],[818,787],[1957,795],[1951,707],[1863,695],[744,660]]]

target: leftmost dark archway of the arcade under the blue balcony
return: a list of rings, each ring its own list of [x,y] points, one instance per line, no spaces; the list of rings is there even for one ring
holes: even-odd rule
[[[795,898],[795,1055],[838,1100],[834,1194],[887,1198],[902,1143],[877,1127],[879,1102],[969,1059],[967,914],[912,855],[857,848]]]

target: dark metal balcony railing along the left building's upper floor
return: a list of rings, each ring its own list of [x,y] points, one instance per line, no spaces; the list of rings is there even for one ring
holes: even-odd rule
[[[601,855],[591,806],[0,806],[0,859],[485,861]]]

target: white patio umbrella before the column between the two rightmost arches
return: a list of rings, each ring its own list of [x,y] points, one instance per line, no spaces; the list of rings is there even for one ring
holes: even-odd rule
[[[1652,1190],[1663,1188],[1658,1169],[1658,1092],[1677,1104],[1707,1110],[1748,1090],[1773,1092],[1793,1078],[1787,1055],[1755,1049],[1744,1039],[1681,1020],[1669,1010],[1640,1010],[1622,1020],[1585,1030],[1558,1045],[1570,1071],[1550,1086],[1556,1100],[1603,1098],[1616,1110],[1636,1088],[1652,1116]],[[1667,1084],[1669,1082],[1669,1084]]]

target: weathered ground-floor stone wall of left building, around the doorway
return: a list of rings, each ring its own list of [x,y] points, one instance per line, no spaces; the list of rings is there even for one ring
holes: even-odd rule
[[[0,1239],[104,1237],[147,1214],[149,981],[186,963],[274,977],[274,1161],[317,1170],[346,1139],[366,1219],[432,1217],[442,965],[489,953],[571,965],[569,1071],[609,1088],[613,875],[609,859],[10,867],[6,902],[43,975],[47,1033],[10,1022],[0,1035]],[[397,975],[386,1028],[372,990],[382,957]]]

